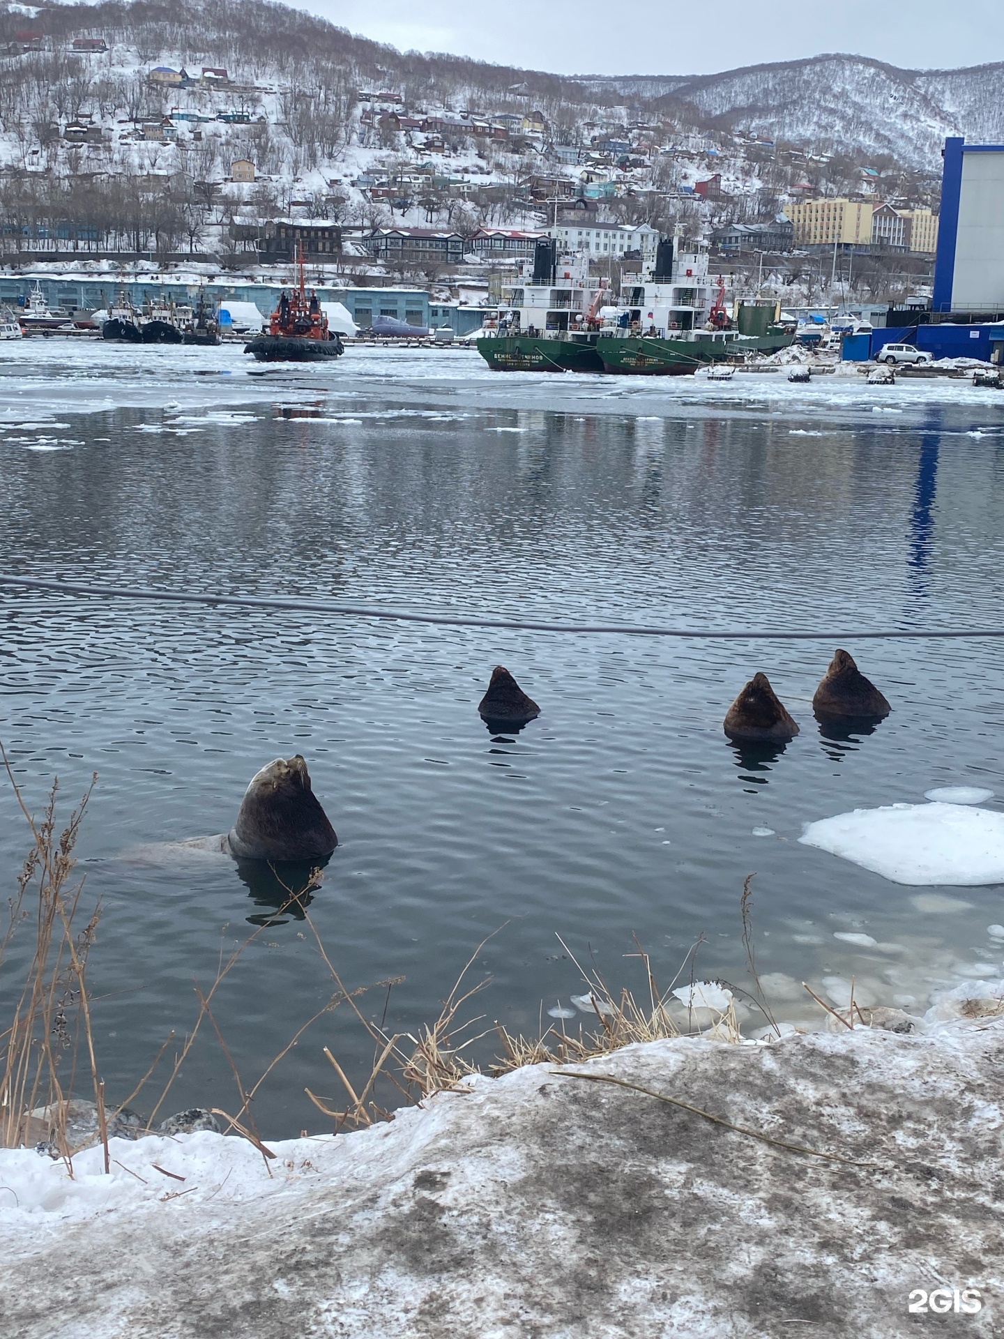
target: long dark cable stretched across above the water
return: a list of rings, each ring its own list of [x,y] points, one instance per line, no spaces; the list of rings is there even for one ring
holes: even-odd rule
[[[386,619],[396,623],[426,623],[447,628],[501,628],[509,632],[605,633],[625,637],[689,637],[728,641],[862,641],[893,637],[1004,637],[1001,628],[880,628],[834,632],[830,628],[779,631],[772,628],[660,628],[624,623],[543,623],[522,619],[479,619],[463,615],[422,613],[410,609],[382,609],[328,600],[289,600],[273,596],[214,595],[197,590],[158,590],[151,586],[92,585],[82,581],[52,581],[43,577],[0,576],[0,585],[58,595],[84,595],[112,600],[165,601],[169,604],[224,605],[236,609],[288,609],[293,613],[331,613],[348,619]]]

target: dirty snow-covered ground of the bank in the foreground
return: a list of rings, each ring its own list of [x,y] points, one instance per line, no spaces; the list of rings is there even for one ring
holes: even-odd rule
[[[269,1170],[216,1134],[114,1141],[74,1181],[0,1153],[4,1339],[890,1339],[941,1288],[981,1303],[953,1332],[1000,1334],[1003,1059],[997,1016],[578,1067],[829,1158],[545,1066]]]

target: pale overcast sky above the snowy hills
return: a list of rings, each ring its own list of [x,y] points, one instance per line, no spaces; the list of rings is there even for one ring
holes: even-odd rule
[[[913,68],[1004,60],[1001,0],[297,0],[400,50],[557,74],[711,74],[847,51]],[[1004,95],[1004,94],[1003,94]]]

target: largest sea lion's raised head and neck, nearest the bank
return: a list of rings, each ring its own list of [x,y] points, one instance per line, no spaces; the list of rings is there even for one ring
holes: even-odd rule
[[[300,754],[276,758],[252,777],[226,837],[237,860],[321,860],[337,844]]]

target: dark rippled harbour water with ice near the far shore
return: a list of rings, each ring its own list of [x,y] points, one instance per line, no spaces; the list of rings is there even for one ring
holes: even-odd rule
[[[99,773],[79,854],[103,904],[92,990],[112,1095],[191,1026],[194,983],[254,928],[214,1006],[245,1086],[335,988],[311,925],[274,915],[274,888],[228,860],[134,852],[226,830],[280,754],[305,755],[340,840],[311,921],[348,987],[404,977],[394,1030],[434,1018],[493,933],[470,980],[490,977],[478,1011],[513,1028],[550,1023],[584,988],[558,935],[636,988],[633,936],[668,984],[704,935],[699,975],[746,983],[739,896],[754,872],[758,965],[782,1016],[818,1019],[801,980],[822,991],[854,973],[920,1008],[937,981],[999,965],[985,928],[1004,919],[1000,888],[944,889],[950,911],[921,911],[921,890],[797,842],[809,821],[933,786],[1004,801],[997,644],[842,636],[1000,624],[992,392],[501,376],[462,351],[353,349],[264,376],[248,362],[240,345],[0,345],[4,569],[834,635],[498,632],[0,588],[0,738],[25,794],[37,809],[55,775],[70,798]],[[813,720],[838,644],[893,703],[873,734],[827,738]],[[493,738],[477,715],[495,663],[543,708],[518,735]],[[802,726],[775,755],[722,735],[756,670]],[[25,846],[4,789],[4,894]],[[359,999],[378,1019],[384,1004],[386,988]],[[233,1109],[206,1031],[171,1110]],[[337,1094],[323,1044],[368,1071],[371,1043],[341,1006],[262,1089],[264,1130],[327,1126],[303,1091]]]

